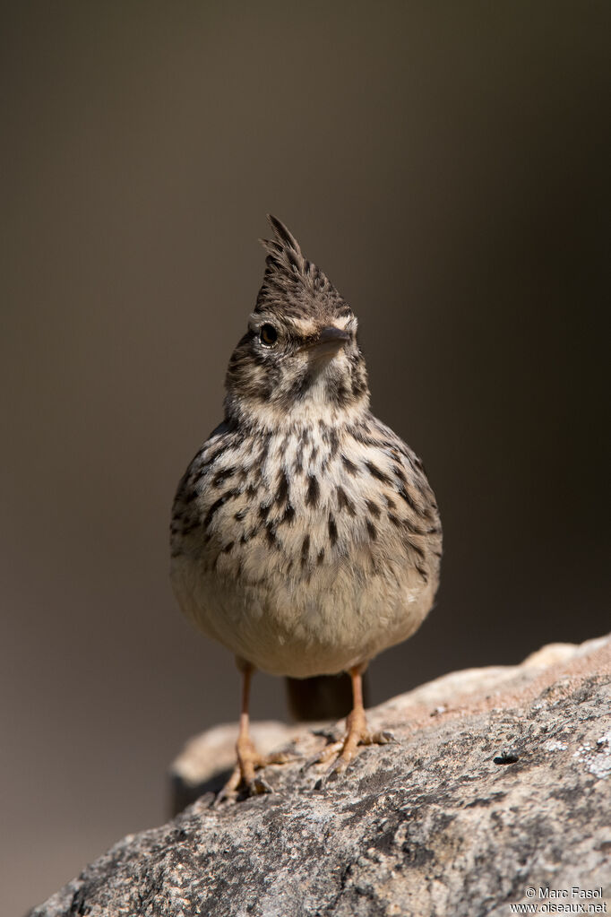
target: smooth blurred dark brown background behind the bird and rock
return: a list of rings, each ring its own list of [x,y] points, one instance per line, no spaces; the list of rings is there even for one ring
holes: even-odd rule
[[[267,211],[353,305],[442,508],[437,608],[373,701],[608,630],[610,9],[5,5],[3,912],[160,823],[182,742],[235,717],[169,506]]]

